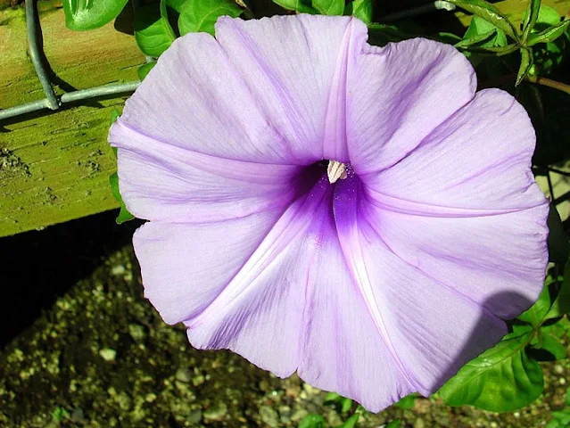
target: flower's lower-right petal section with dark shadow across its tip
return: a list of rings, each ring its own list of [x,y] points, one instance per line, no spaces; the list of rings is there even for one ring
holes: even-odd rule
[[[392,251],[378,229],[381,219],[371,215],[364,195],[358,177],[339,183],[335,190],[335,221],[344,258],[357,284],[356,294],[364,300],[401,375],[414,391],[428,396],[460,366],[499,342],[507,326],[452,285]]]

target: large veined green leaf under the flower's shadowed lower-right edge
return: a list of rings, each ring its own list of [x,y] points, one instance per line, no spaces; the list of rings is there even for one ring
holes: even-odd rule
[[[442,386],[448,406],[475,406],[492,412],[525,407],[544,388],[541,366],[528,358],[531,333],[509,334],[495,347],[468,362]]]

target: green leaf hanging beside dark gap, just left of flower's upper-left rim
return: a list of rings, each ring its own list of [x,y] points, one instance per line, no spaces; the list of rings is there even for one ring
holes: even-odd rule
[[[136,45],[145,55],[155,58],[161,56],[176,38],[164,0],[160,5],[148,4],[136,9],[134,28]]]

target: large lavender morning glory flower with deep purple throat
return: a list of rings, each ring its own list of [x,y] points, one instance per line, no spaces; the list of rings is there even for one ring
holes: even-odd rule
[[[127,102],[145,295],[229,349],[378,411],[435,391],[536,300],[548,203],[507,93],[450,45],[350,17],[222,18]],[[509,294],[509,298],[493,298]]]

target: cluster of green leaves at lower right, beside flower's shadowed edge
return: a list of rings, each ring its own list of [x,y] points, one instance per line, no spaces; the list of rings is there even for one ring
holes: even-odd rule
[[[568,279],[561,284],[558,278],[549,276],[538,300],[516,318],[513,333],[467,363],[442,386],[439,393],[447,405],[507,412],[539,397],[543,380],[538,361],[566,358],[562,339],[570,323],[564,317],[559,323],[549,324],[549,320],[564,316],[570,309],[570,263],[566,264],[565,274]]]

